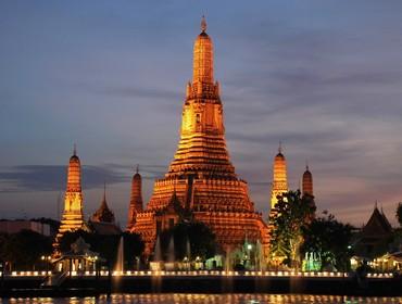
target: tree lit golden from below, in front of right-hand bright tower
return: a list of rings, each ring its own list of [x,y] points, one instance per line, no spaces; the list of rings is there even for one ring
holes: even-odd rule
[[[278,195],[275,211],[271,213],[271,254],[285,257],[284,263],[298,268],[303,229],[314,217],[315,204],[312,197],[301,197],[300,190]]]

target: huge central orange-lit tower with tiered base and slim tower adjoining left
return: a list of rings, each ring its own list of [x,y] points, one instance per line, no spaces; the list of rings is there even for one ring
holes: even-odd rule
[[[213,43],[205,30],[203,18],[193,46],[193,75],[183,105],[178,149],[143,211],[136,188],[139,181],[133,180],[137,183],[133,185],[128,230],[141,235],[148,255],[159,231],[185,216],[206,224],[225,252],[246,240],[268,245],[268,228],[254,210],[247,182],[230,163],[219,84],[214,81]]]

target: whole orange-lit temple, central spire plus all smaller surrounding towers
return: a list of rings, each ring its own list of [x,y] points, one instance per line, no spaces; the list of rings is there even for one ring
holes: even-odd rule
[[[202,18],[201,34],[193,46],[192,81],[188,83],[183,104],[180,139],[163,178],[155,180],[152,197],[143,206],[141,176],[131,180],[126,230],[140,235],[145,255],[153,253],[158,235],[186,220],[204,223],[216,237],[221,250],[229,253],[246,241],[260,243],[265,254],[271,227],[254,208],[248,183],[236,174],[225,140],[224,110],[219,84],[214,80],[213,43]],[[303,175],[303,194],[313,195],[312,175]],[[286,159],[281,148],[274,159],[271,203],[288,191]],[[268,193],[268,192],[267,192]],[[269,195],[267,194],[267,201]],[[54,242],[55,252],[64,232],[88,229],[84,220],[80,161],[74,149],[67,169],[64,213]],[[114,221],[105,200],[92,221]]]

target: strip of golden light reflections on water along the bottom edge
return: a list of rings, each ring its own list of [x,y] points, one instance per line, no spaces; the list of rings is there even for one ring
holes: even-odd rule
[[[155,303],[155,304],[265,304],[265,303],[402,303],[402,297],[362,297],[341,295],[311,295],[311,294],[113,294],[110,299],[105,295],[99,297],[27,297],[0,300],[0,304],[117,304],[117,303]]]

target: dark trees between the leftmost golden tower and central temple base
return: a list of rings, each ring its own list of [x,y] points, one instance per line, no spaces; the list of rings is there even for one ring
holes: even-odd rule
[[[71,251],[71,244],[79,237],[90,244],[91,251],[99,253],[101,257],[105,258],[111,267],[113,267],[116,262],[118,243],[122,237],[124,240],[125,267],[130,267],[134,264],[135,257],[141,256],[145,248],[141,238],[136,233],[124,232],[122,235],[103,236],[77,230],[64,233],[60,241],[61,251]]]

